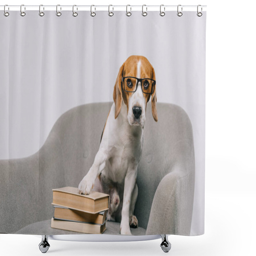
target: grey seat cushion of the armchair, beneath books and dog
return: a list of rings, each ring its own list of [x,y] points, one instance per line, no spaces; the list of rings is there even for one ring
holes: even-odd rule
[[[120,223],[114,221],[106,222],[106,230],[103,234],[116,235],[119,234]],[[131,228],[132,235],[146,235],[144,228]],[[34,235],[78,235],[83,233],[72,232],[57,228],[51,228],[51,220],[38,221],[18,230],[15,234],[34,234]],[[86,234],[86,233],[84,233]]]

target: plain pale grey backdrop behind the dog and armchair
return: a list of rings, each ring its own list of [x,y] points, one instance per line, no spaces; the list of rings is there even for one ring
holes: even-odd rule
[[[199,18],[196,12],[1,15],[0,158],[35,153],[68,109],[113,100],[120,66],[130,55],[144,55],[155,69],[158,102],[177,104],[190,117],[196,161],[191,235],[204,233],[205,20],[206,13]]]

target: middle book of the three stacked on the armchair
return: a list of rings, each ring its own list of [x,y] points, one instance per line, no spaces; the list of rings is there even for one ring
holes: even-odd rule
[[[105,222],[106,218],[107,211],[92,214],[54,205],[54,219],[82,221],[102,225]]]

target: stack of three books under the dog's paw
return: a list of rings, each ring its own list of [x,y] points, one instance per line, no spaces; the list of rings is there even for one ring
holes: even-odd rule
[[[106,230],[109,195],[95,191],[90,195],[80,195],[74,187],[52,191],[52,228],[88,234],[101,234]]]

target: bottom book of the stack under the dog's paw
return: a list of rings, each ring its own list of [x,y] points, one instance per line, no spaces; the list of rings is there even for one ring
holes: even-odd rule
[[[87,233],[87,234],[101,234],[106,230],[106,221],[103,225],[91,224],[78,221],[56,220],[52,218],[51,228],[63,229],[68,231]]]

